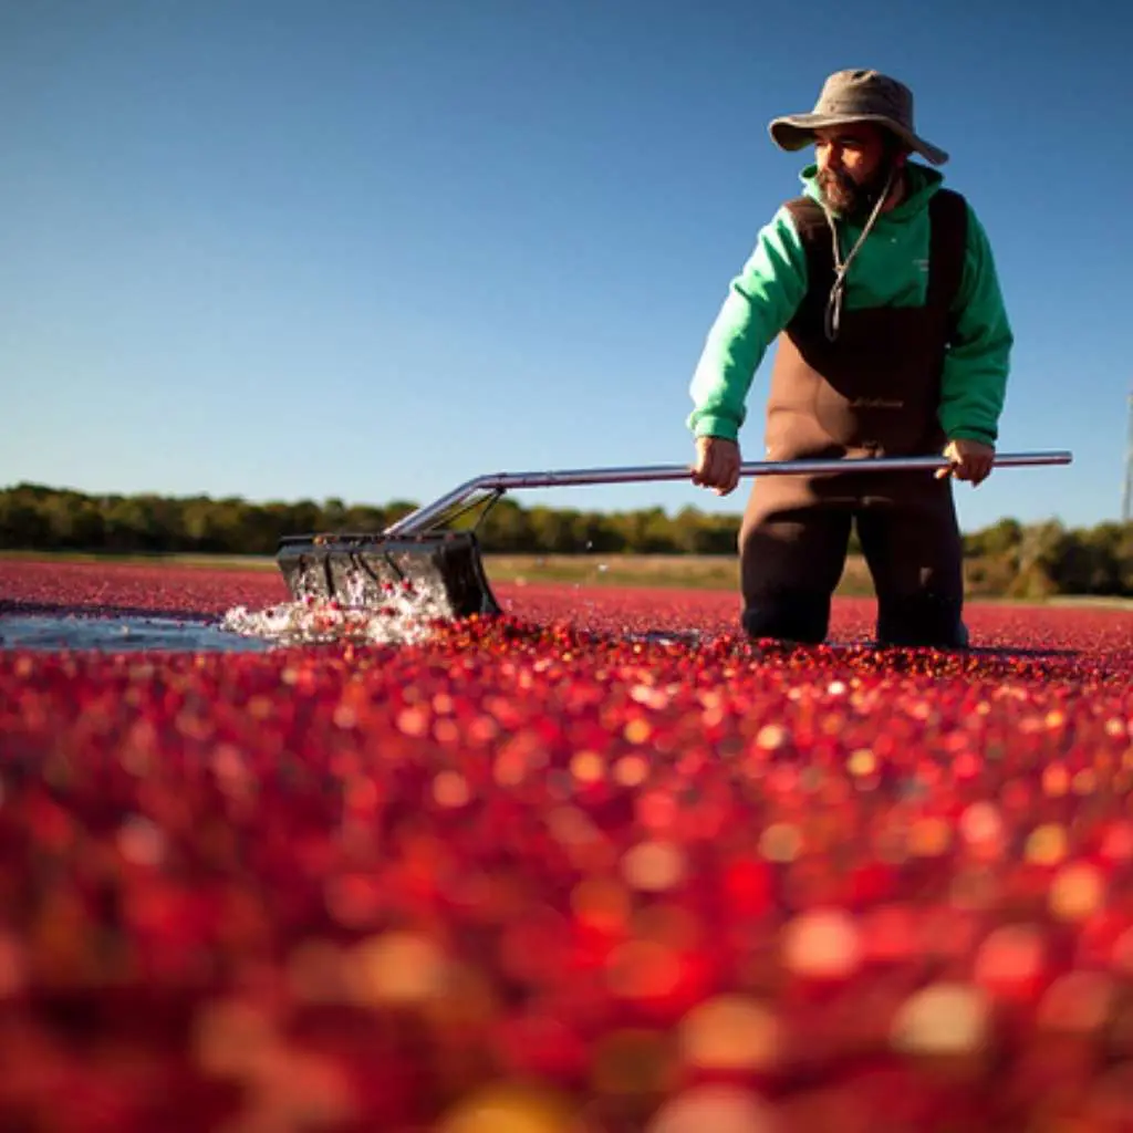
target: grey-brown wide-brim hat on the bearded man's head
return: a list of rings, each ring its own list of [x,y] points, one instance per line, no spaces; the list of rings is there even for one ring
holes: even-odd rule
[[[934,165],[943,165],[948,160],[944,150],[917,134],[912,91],[876,70],[836,71],[823,85],[810,113],[776,118],[768,129],[781,150],[795,151],[815,140],[815,130],[852,122],[876,122],[886,127]]]

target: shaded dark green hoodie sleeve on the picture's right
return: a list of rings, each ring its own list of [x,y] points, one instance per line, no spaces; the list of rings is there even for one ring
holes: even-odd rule
[[[971,206],[956,312],[956,332],[940,385],[940,427],[949,441],[965,438],[995,444],[1014,337],[991,245]]]

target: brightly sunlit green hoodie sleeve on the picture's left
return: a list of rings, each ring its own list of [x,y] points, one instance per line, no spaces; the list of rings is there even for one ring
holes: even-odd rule
[[[780,208],[760,229],[708,331],[689,386],[695,436],[736,440],[756,370],[806,292],[807,257],[791,214]]]

